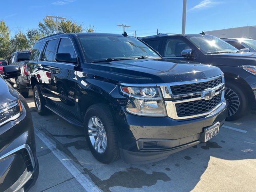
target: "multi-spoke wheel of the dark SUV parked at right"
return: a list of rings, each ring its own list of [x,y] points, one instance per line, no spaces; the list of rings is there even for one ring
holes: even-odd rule
[[[239,97],[236,94],[236,92],[234,92],[232,89],[230,88],[225,88],[225,99],[228,103],[228,117],[234,115],[240,106],[240,101],[239,101]]]

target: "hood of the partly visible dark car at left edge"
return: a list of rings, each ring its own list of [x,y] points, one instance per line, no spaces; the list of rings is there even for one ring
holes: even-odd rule
[[[18,98],[17,91],[0,76],[0,107]]]

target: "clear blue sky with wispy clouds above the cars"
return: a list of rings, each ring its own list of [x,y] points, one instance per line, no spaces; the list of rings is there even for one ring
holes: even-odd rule
[[[158,32],[180,33],[182,0],[8,0],[0,19],[18,30],[37,28],[46,15],[72,18],[96,32],[122,33],[117,24],[137,36]],[[186,33],[256,25],[255,0],[187,0]]]

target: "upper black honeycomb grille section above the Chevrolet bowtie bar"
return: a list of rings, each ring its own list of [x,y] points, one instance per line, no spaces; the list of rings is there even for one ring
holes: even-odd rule
[[[206,81],[206,82],[171,86],[171,90],[172,90],[172,94],[181,95],[181,94],[188,94],[188,93],[194,93],[194,92],[202,92],[208,88],[214,88],[221,83],[222,83],[222,78],[219,77],[217,79]]]

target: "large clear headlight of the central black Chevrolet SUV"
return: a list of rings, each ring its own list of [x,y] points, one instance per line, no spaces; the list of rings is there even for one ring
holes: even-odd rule
[[[120,86],[121,92],[130,98],[126,111],[140,116],[166,116],[164,101],[157,87]]]

